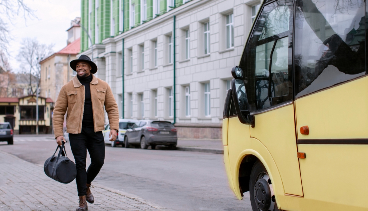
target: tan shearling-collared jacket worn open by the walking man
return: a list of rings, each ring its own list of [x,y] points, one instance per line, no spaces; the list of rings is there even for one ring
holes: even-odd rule
[[[93,110],[93,126],[95,132],[105,129],[105,110],[109,117],[110,129],[119,129],[119,111],[110,86],[92,74],[89,84]],[[64,115],[67,113],[67,133],[82,132],[85,89],[79,82],[77,75],[64,85],[57,97],[54,112],[53,126],[55,138],[63,135]]]

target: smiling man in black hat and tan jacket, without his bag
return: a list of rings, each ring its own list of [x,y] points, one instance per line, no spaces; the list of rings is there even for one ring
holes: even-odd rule
[[[63,136],[64,115],[67,112],[67,132],[70,147],[77,167],[79,207],[76,211],[88,210],[87,203],[95,200],[90,190],[91,182],[99,173],[105,160],[105,110],[110,123],[110,141],[114,141],[119,129],[119,111],[110,86],[93,74],[97,66],[86,55],[70,62],[77,75],[64,85],[57,97],[53,126],[57,144],[65,142]],[[91,165],[86,171],[87,150]]]

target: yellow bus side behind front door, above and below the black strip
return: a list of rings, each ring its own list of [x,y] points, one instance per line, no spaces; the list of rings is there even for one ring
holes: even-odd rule
[[[356,142],[368,138],[368,77],[302,97],[295,104],[297,128],[309,128],[309,135],[298,130],[298,149],[306,154],[299,161],[305,198],[368,209],[368,185],[362,178],[368,174],[368,145]],[[306,141],[309,144],[301,144]]]

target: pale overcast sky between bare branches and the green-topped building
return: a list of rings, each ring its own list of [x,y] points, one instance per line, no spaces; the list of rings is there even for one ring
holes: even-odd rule
[[[80,0],[24,0],[35,11],[38,19],[22,16],[13,20],[14,25],[9,25],[13,40],[10,41],[10,65],[14,72],[19,71],[16,60],[22,38],[31,37],[40,43],[54,43],[54,51],[59,51],[67,45],[67,32],[70,21],[81,15]]]

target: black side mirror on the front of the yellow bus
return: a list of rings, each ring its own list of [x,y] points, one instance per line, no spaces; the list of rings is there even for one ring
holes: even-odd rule
[[[233,92],[234,107],[238,119],[241,123],[254,127],[254,118],[250,115],[248,106],[248,96],[243,80],[243,70],[241,67],[233,67],[233,69],[231,69],[231,74],[234,77],[231,81],[231,90]]]

